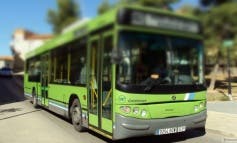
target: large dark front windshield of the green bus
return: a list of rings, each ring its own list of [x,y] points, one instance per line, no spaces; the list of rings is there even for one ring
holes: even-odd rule
[[[200,40],[138,32],[121,32],[118,46],[122,61],[117,65],[119,84],[203,84]]]

